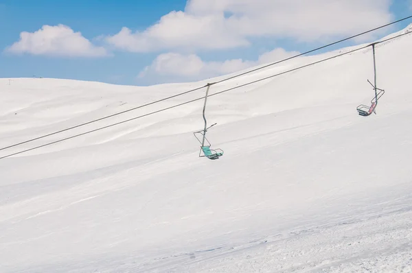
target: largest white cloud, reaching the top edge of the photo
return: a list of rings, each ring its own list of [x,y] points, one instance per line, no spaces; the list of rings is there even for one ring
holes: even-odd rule
[[[106,41],[126,51],[225,49],[249,38],[314,41],[388,23],[391,0],[188,0],[143,32],[124,27]]]

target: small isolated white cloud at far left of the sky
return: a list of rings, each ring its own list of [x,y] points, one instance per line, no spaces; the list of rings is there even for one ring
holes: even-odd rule
[[[12,54],[32,54],[67,57],[106,56],[104,47],[96,47],[80,32],[66,25],[43,25],[36,32],[21,32],[20,40],[5,51]]]

